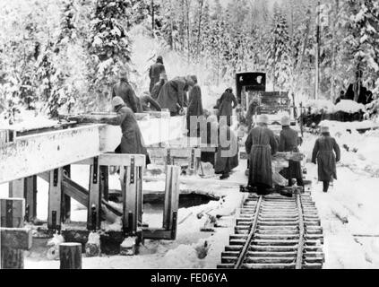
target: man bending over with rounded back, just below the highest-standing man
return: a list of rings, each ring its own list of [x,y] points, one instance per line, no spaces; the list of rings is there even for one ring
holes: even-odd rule
[[[171,116],[177,116],[185,107],[185,93],[189,84],[185,77],[176,77],[162,87],[158,96],[161,109],[168,109]]]

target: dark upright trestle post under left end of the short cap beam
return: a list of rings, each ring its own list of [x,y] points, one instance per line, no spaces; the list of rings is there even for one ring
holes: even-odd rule
[[[93,158],[90,165],[90,197],[88,201],[88,230],[97,230],[100,228],[101,212],[101,194],[100,194],[100,166],[99,157]]]

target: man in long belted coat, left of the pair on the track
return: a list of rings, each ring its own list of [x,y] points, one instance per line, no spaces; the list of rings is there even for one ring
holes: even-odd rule
[[[267,194],[272,187],[271,155],[278,151],[275,135],[267,127],[269,117],[259,115],[257,126],[247,136],[245,149],[249,159],[248,187],[256,187],[258,194]]]

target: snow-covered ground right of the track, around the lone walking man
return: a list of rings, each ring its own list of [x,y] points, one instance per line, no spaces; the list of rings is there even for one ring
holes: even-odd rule
[[[324,268],[379,268],[379,133],[360,135],[357,123],[329,123],[340,144],[337,178],[328,193],[317,183],[317,168],[306,163],[324,235]],[[332,125],[331,125],[332,124]],[[334,124],[334,125],[333,125]],[[303,151],[311,156],[316,137],[306,135]],[[349,146],[349,152],[342,146]]]

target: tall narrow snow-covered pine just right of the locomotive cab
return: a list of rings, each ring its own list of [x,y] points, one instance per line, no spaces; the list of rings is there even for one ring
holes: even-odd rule
[[[291,54],[289,27],[278,5],[274,8],[270,47],[267,53],[267,69],[273,89],[289,90],[291,81]]]

